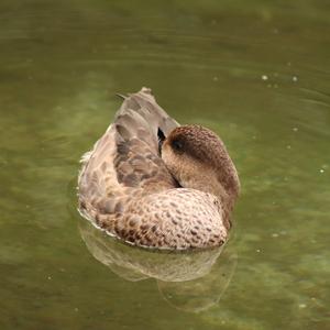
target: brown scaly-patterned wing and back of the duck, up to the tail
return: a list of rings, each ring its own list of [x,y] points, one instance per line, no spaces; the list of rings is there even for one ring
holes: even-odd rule
[[[87,211],[123,212],[136,194],[176,187],[158,151],[158,139],[176,127],[150,89],[125,97],[114,122],[81,160],[80,206]]]

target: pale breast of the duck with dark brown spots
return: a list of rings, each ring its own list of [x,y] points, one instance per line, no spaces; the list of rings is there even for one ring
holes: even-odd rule
[[[168,189],[132,201],[112,231],[140,246],[188,249],[222,245],[228,237],[218,198],[195,189]]]

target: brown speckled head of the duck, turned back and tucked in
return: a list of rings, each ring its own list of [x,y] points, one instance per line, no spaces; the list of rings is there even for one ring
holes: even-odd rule
[[[163,141],[161,154],[182,187],[211,193],[232,207],[240,190],[238,173],[223,142],[211,130],[178,127]]]

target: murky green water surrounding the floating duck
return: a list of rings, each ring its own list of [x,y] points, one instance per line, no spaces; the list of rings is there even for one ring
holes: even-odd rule
[[[223,251],[109,241],[80,155],[151,87],[240,173]],[[0,2],[0,329],[329,329],[330,2]]]

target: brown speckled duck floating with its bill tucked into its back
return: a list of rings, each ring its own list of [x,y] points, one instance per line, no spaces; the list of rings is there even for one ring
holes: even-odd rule
[[[121,97],[113,122],[81,157],[80,215],[140,248],[223,245],[240,180],[222,140],[202,125],[180,125],[150,88]]]

